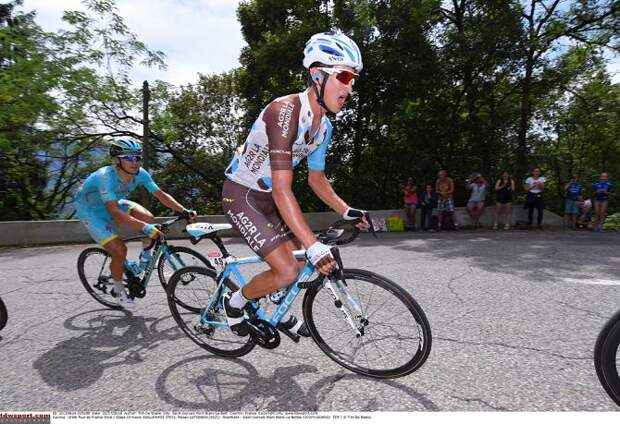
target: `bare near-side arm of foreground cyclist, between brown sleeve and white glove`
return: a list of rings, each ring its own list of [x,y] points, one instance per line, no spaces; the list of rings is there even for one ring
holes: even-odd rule
[[[316,236],[306,223],[301,212],[299,203],[293,193],[293,171],[292,170],[272,170],[272,196],[280,212],[280,216],[301,242],[304,248],[308,248],[316,242]]]

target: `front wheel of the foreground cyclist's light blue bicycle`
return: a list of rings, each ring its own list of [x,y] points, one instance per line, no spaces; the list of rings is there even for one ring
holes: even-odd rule
[[[331,284],[356,329],[337,308],[327,280],[304,296],[304,319],[321,350],[343,367],[374,378],[402,377],[422,366],[431,350],[431,328],[413,297],[372,272],[345,269],[344,279],[346,286]]]

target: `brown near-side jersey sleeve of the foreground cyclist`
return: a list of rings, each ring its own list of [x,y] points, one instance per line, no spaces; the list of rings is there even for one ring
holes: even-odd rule
[[[297,94],[274,100],[267,106],[263,121],[269,142],[269,162],[272,171],[293,169],[293,142],[301,101]]]

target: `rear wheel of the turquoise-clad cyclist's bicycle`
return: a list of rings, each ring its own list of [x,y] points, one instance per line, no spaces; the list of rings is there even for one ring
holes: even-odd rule
[[[111,294],[110,255],[100,247],[89,247],[78,257],[78,274],[86,291],[110,309],[123,309]]]

